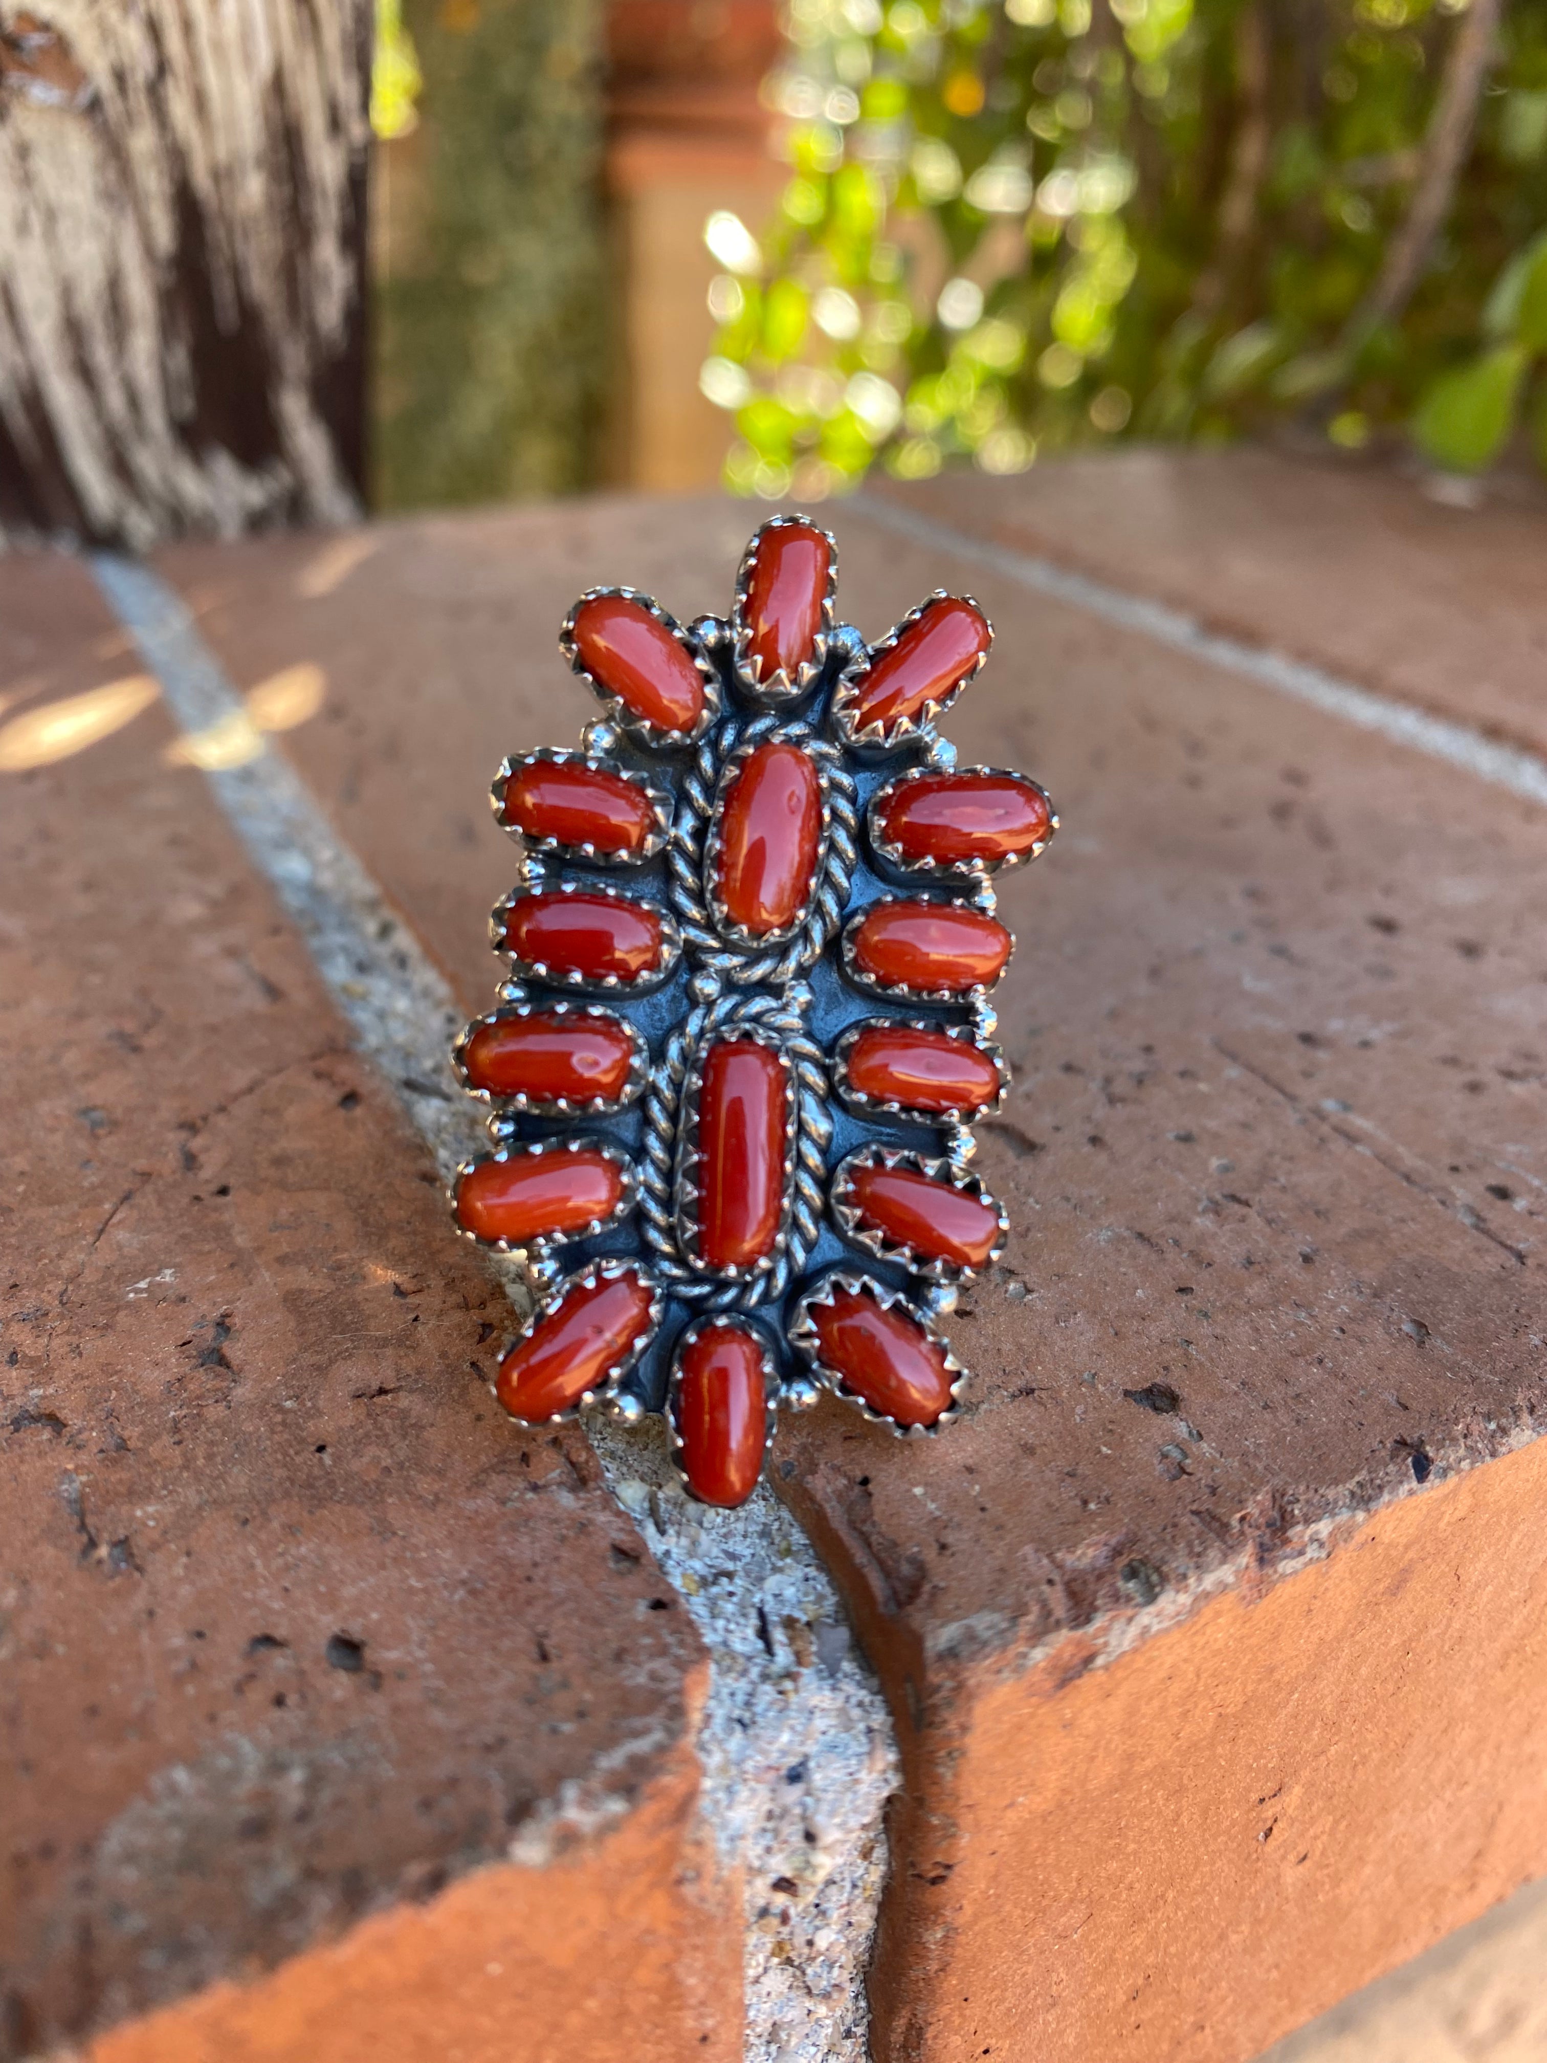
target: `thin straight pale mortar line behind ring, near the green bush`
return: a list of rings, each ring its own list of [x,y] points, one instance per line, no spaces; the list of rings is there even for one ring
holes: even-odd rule
[[[926,545],[930,551],[949,551],[957,559],[988,565],[1017,586],[1066,602],[1071,609],[1083,609],[1085,615],[1099,617],[1101,623],[1112,623],[1116,629],[1149,637],[1172,652],[1182,652],[1223,673],[1254,681],[1258,687],[1291,695],[1295,701],[1306,701],[1326,716],[1357,724],[1359,730],[1374,730],[1390,739],[1392,745],[1405,745],[1411,751],[1425,753],[1429,759],[1442,759],[1446,765],[1460,767],[1464,774],[1485,780],[1495,788],[1506,788],[1526,803],[1547,805],[1547,759],[1520,745],[1504,745],[1497,739],[1489,739],[1473,724],[1431,716],[1427,710],[1398,701],[1394,695],[1380,695],[1370,687],[1359,687],[1355,681],[1345,681],[1324,666],[1314,666],[1310,660],[1275,652],[1271,646],[1252,646],[1240,637],[1223,637],[1219,631],[1205,629],[1194,615],[1174,609],[1170,602],[1153,602],[1141,594],[1128,594],[1104,580],[1091,580],[1089,574],[1075,574],[1068,567],[1056,565],[1038,553],[1015,551],[1009,545],[969,536],[953,524],[939,522],[934,516],[920,516],[916,510],[897,507],[893,501],[883,501],[877,495],[856,495],[848,505],[858,516],[897,532],[897,536],[910,538],[914,545]]]

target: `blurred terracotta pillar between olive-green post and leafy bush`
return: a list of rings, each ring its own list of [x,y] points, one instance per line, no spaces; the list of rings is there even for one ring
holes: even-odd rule
[[[757,97],[778,14],[774,0],[613,0],[606,41],[617,365],[602,470],[621,487],[712,487],[730,421],[697,388],[714,334],[703,223],[732,208],[755,229],[784,184]]]

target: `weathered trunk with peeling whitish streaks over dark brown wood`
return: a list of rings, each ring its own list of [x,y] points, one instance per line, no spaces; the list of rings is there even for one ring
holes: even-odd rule
[[[369,0],[0,0],[0,545],[338,522]]]

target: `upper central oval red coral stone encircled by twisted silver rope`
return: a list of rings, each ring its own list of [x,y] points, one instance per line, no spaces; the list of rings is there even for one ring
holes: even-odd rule
[[[821,846],[821,782],[798,745],[759,745],[726,790],[716,889],[726,916],[759,939],[788,930],[811,899]]]

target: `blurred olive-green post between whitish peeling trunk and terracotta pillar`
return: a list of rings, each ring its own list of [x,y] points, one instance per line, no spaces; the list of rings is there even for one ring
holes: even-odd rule
[[[594,477],[606,382],[600,0],[377,0],[380,507]]]

